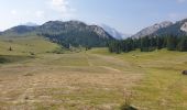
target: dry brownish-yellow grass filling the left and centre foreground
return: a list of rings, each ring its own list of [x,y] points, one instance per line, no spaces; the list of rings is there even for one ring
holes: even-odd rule
[[[129,64],[89,53],[41,54],[0,66],[0,109],[113,110],[142,77]],[[123,68],[124,67],[124,68]]]

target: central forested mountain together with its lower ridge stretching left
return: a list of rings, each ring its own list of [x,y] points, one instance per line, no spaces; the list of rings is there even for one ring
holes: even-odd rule
[[[105,46],[113,40],[102,28],[80,21],[48,21],[38,26],[19,25],[3,32],[4,35],[37,34],[64,46]]]

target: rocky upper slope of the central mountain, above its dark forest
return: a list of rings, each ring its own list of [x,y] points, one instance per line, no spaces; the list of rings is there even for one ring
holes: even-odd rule
[[[110,38],[111,36],[98,25],[87,25],[79,21],[50,21],[37,28],[38,32],[51,33],[51,34],[62,34],[67,32],[94,32],[99,37]]]

